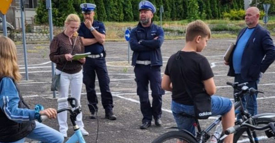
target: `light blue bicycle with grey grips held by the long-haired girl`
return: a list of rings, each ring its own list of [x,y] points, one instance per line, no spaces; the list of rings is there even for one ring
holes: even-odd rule
[[[74,101],[74,103],[73,103]],[[60,103],[60,102],[69,102],[69,104],[71,106],[68,106],[67,108],[62,108],[60,110],[57,110],[57,113],[60,113],[60,112],[63,112],[63,111],[69,111],[70,112],[70,119],[71,119],[71,123],[73,124],[73,127],[74,127],[74,134],[67,140],[66,143],[76,143],[76,142],[79,142],[79,143],[86,143],[84,138],[83,138],[83,135],[80,131],[80,128],[78,127],[78,125],[76,125],[76,116],[81,112],[81,108],[80,106],[78,105],[78,101],[76,98],[74,97],[63,97],[63,98],[59,98],[57,99],[57,102]],[[73,108],[75,108],[73,110]],[[46,115],[42,115],[41,116],[41,120],[42,121],[45,121],[47,120],[48,117]]]

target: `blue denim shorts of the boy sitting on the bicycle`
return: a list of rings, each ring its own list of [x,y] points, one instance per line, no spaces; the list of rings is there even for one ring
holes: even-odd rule
[[[224,115],[231,110],[233,105],[230,99],[216,95],[211,96],[211,104],[212,116]],[[171,110],[177,123],[177,127],[180,129],[186,129],[195,136],[195,127],[193,126],[195,119],[181,115],[181,113],[194,115],[194,106],[180,104],[172,100]]]

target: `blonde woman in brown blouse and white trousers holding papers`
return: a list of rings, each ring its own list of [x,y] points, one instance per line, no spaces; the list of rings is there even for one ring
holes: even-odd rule
[[[74,54],[84,53],[84,45],[78,36],[77,29],[80,18],[76,14],[70,14],[65,20],[65,30],[54,37],[50,44],[50,60],[56,63],[56,74],[60,74],[58,97],[68,97],[69,86],[71,86],[71,97],[80,101],[82,89],[82,65],[85,58],[73,59]],[[68,102],[58,103],[58,109],[66,108]],[[67,112],[58,113],[59,131],[67,137]],[[89,135],[84,129],[82,113],[78,114],[76,124],[80,127],[81,133]]]

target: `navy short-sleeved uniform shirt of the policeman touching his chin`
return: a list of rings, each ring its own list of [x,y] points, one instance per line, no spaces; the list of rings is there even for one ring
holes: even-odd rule
[[[92,26],[99,33],[105,34],[105,26],[102,22],[93,20]],[[94,35],[91,33],[90,29],[86,27],[84,22],[81,22],[78,33],[79,33],[79,36],[83,38],[95,38]],[[91,54],[101,54],[103,53],[103,50],[104,50],[103,45],[98,42],[89,46],[85,46],[85,53],[91,52]]]

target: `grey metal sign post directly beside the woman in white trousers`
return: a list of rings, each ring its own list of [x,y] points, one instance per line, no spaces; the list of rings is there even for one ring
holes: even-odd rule
[[[49,16],[49,30],[50,30],[50,41],[52,42],[53,39],[53,26],[52,26],[52,1],[46,0],[46,9],[48,10],[48,16]],[[55,67],[54,63],[52,62],[52,76],[55,74]],[[53,98],[56,98],[56,92],[53,91]]]

